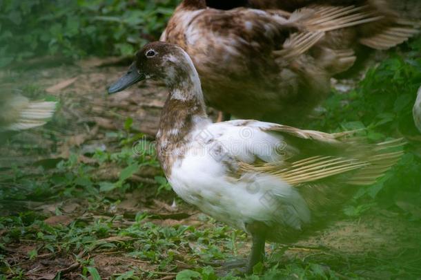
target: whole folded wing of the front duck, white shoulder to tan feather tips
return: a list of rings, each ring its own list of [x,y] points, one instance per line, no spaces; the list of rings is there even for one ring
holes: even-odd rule
[[[271,174],[296,187],[341,174],[342,184],[370,185],[399,160],[404,145],[402,139],[371,144],[355,136],[358,131],[323,133],[251,120],[212,124],[208,131],[241,172]]]

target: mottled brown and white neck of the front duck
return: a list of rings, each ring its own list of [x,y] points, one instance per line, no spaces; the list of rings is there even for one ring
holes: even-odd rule
[[[188,63],[174,62],[175,67],[169,71],[172,75],[165,81],[170,94],[161,113],[157,133],[158,158],[164,171],[171,161],[181,156],[180,150],[190,140],[190,132],[210,123],[199,75],[190,57],[187,58]]]

